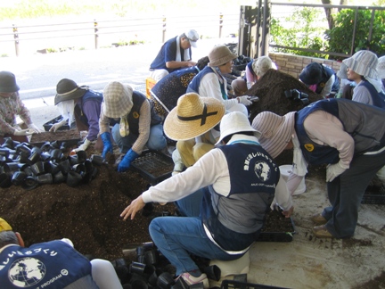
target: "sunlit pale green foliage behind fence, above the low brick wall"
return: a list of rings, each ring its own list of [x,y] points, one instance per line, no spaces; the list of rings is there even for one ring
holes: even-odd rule
[[[279,20],[271,21],[272,42],[276,45],[307,48],[313,50],[324,50],[326,43],[322,38],[324,29],[319,27],[320,10],[309,7],[296,8],[291,16],[284,19],[285,25]],[[288,27],[290,24],[290,27]],[[315,56],[324,58],[324,54],[275,48],[277,52],[297,54],[304,56]]]

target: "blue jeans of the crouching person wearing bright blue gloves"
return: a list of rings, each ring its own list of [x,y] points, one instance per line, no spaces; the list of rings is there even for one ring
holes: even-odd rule
[[[120,153],[127,153],[138,137],[131,132],[128,136],[120,136],[119,123],[113,126],[111,133],[114,142],[119,146]],[[150,150],[161,150],[166,147],[166,145],[167,141],[166,137],[163,135],[163,126],[161,124],[152,126],[150,128],[150,136],[146,146]]]

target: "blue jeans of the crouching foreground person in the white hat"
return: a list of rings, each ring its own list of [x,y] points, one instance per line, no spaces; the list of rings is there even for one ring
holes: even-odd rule
[[[209,260],[235,260],[242,257],[242,254],[227,254],[206,235],[198,216],[201,198],[202,190],[176,202],[178,209],[188,217],[159,217],[150,223],[152,241],[176,267],[176,275],[199,269],[190,253]]]

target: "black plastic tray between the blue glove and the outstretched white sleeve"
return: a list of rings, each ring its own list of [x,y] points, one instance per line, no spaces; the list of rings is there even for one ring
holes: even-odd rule
[[[152,185],[156,185],[171,177],[174,161],[164,153],[147,150],[131,163],[131,167],[143,178],[148,179]]]

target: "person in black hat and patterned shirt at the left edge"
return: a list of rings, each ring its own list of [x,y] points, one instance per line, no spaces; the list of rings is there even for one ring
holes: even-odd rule
[[[29,109],[21,102],[19,89],[12,72],[0,71],[0,145],[4,143],[4,137],[28,143],[27,136],[42,131],[32,122]],[[19,116],[28,128],[21,129],[16,122],[16,116]]]

